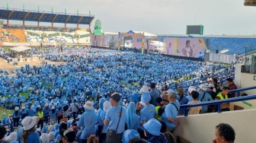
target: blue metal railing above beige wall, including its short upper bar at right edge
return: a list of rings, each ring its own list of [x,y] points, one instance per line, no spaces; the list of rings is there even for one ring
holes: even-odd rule
[[[240,88],[237,90],[232,90],[229,91],[230,93],[233,92],[238,92],[238,94],[240,95],[240,91],[248,91],[248,90],[252,90],[252,89],[256,89],[256,86],[254,87],[245,87],[245,88]],[[194,106],[205,106],[205,105],[218,105],[218,113],[221,113],[221,104],[222,103],[232,103],[232,102],[237,102],[237,101],[243,101],[243,100],[255,100],[256,99],[256,94],[254,95],[250,95],[250,96],[245,96],[245,97],[234,97],[234,98],[229,98],[226,100],[212,100],[212,101],[206,101],[203,103],[194,103],[194,104],[186,104],[186,105],[181,105],[181,108],[184,108],[185,110],[185,114],[184,116],[188,115],[188,111],[187,109],[190,107],[194,107]]]

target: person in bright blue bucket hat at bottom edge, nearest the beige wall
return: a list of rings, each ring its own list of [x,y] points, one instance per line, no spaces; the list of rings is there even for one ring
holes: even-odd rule
[[[148,142],[152,143],[168,143],[164,134],[160,132],[162,124],[157,119],[150,119],[143,124],[144,134],[148,138]]]

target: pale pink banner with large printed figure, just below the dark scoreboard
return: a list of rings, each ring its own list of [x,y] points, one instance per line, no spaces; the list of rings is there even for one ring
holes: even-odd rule
[[[165,54],[203,59],[206,44],[202,38],[166,38]]]

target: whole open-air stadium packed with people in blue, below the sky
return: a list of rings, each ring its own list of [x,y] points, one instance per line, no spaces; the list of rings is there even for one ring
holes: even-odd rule
[[[254,35],[105,32],[91,12],[39,8],[0,19],[0,142],[256,139]]]

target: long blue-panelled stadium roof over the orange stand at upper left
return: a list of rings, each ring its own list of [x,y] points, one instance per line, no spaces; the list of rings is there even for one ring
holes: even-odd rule
[[[65,14],[49,11],[31,11],[21,9],[0,9],[0,19],[14,21],[36,21],[62,24],[91,24],[94,15]]]

